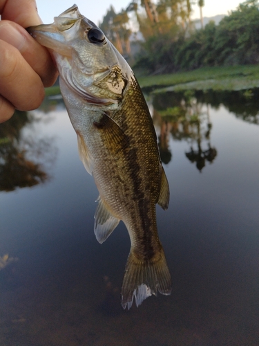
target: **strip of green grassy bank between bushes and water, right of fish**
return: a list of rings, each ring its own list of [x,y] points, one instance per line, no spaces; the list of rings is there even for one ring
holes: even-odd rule
[[[195,90],[242,90],[259,87],[259,65],[202,68],[167,75],[137,78],[142,88],[154,92]]]

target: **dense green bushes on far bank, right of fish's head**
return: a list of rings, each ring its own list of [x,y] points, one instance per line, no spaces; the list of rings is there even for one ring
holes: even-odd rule
[[[162,1],[159,2],[160,7]],[[157,6],[159,8],[159,6]],[[186,35],[180,26],[146,39],[135,67],[148,73],[189,71],[202,66],[232,66],[259,62],[258,0],[240,3],[218,26]]]

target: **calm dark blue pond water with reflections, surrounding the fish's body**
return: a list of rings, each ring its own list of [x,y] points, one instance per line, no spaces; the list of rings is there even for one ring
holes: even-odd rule
[[[124,310],[122,222],[100,245],[97,188],[62,100],[0,125],[0,345],[259,345],[259,97],[147,95],[171,188],[157,226],[170,296]]]

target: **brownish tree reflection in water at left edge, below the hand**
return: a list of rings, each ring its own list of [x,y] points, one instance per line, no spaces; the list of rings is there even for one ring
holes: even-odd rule
[[[46,165],[41,161],[55,159],[52,140],[22,134],[22,129],[34,121],[27,112],[16,111],[10,120],[0,125],[1,191],[31,187],[49,179]]]

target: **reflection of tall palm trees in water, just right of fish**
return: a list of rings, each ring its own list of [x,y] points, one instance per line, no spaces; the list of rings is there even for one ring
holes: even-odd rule
[[[206,161],[214,161],[217,150],[211,146],[210,141],[212,124],[209,107],[204,111],[204,104],[198,102],[192,91],[155,95],[153,106],[154,122],[160,123],[158,145],[163,163],[169,163],[172,156],[169,149],[170,134],[174,140],[186,140],[189,143],[186,158],[191,163],[196,163],[200,172]]]

